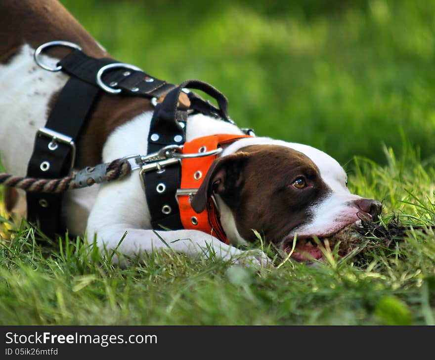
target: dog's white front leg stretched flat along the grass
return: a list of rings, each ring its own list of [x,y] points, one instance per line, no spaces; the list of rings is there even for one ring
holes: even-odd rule
[[[91,242],[96,237],[100,251],[117,248],[118,252],[128,256],[166,249],[194,257],[216,257],[256,266],[267,264],[268,259],[263,252],[241,251],[201,231],[151,230],[149,218],[139,179],[132,175],[127,180],[100,188],[88,219],[87,239]]]

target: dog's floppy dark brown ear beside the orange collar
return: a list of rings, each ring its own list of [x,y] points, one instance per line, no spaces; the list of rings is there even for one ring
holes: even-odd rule
[[[248,154],[243,152],[223,156],[213,161],[190,203],[192,209],[197,214],[202,213],[213,193],[231,202],[236,201],[237,189],[243,184],[242,173],[247,161]]]

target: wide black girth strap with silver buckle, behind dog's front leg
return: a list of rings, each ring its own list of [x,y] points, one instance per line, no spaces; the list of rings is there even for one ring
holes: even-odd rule
[[[98,93],[98,88],[75,77],[68,80],[48,117],[46,130],[37,134],[28,177],[54,179],[68,175],[74,162],[72,147]],[[69,137],[70,143],[50,137],[52,131]],[[49,237],[61,231],[61,210],[62,194],[27,193],[27,219],[39,220],[40,229]]]

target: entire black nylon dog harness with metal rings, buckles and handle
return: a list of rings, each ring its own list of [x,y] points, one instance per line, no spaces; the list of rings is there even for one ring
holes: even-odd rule
[[[55,68],[49,68],[41,62],[39,55],[44,48],[59,45],[74,50]],[[104,91],[114,96],[145,97],[155,105],[148,136],[148,154],[167,145],[184,144],[188,114],[203,113],[233,123],[227,114],[225,96],[200,80],[187,80],[176,86],[135,66],[87,56],[78,45],[66,41],[41,45],[35,51],[35,61],[46,70],[67,73],[69,79],[59,93],[45,126],[37,132],[27,170],[29,177],[55,179],[71,172],[75,164],[76,144]],[[216,99],[218,107],[187,88],[207,93]],[[185,92],[190,100],[188,109],[177,106],[181,92]],[[163,95],[166,95],[164,101],[157,103]],[[181,179],[179,163],[156,171],[141,171],[140,174],[145,184],[153,228],[182,229],[175,196]],[[159,191],[161,183],[166,186],[164,193]],[[27,193],[28,221],[37,223],[48,237],[53,238],[55,234],[65,231],[61,210],[62,194]]]

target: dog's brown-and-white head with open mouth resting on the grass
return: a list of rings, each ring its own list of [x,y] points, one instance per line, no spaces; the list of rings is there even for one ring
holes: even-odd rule
[[[254,241],[256,229],[289,253],[296,233],[296,260],[321,258],[313,236],[321,240],[361,218],[376,219],[382,209],[378,201],[350,193],[345,171],[329,155],[264,138],[227,148],[192,199],[193,209],[202,212],[212,194],[230,213],[222,214],[227,234]]]

